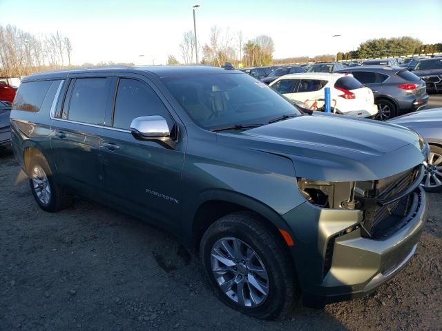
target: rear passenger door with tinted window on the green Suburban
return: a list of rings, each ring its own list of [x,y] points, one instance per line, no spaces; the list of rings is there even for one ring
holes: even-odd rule
[[[75,77],[52,120],[51,147],[59,180],[86,196],[97,197],[102,183],[99,140],[112,101],[112,80]]]

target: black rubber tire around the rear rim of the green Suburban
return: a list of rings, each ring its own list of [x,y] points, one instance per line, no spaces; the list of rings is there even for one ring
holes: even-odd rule
[[[41,201],[39,199],[39,197],[37,196],[35,185],[32,181],[32,171],[35,169],[36,166],[39,166],[42,170],[44,170],[44,173],[46,174],[46,177],[48,179],[50,197],[48,198],[47,202]],[[32,195],[34,196],[35,201],[37,201],[37,204],[42,210],[45,210],[46,212],[58,212],[59,210],[68,207],[68,205],[70,205],[70,203],[72,202],[72,197],[70,196],[70,194],[68,194],[68,192],[66,192],[64,188],[61,188],[55,182],[55,179],[52,176],[52,171],[50,170],[48,162],[43,155],[35,155],[32,157],[29,163],[28,176]]]

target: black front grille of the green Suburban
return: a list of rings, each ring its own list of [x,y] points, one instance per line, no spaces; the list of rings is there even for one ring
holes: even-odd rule
[[[372,191],[374,198],[388,200],[396,194],[403,192],[414,182],[418,172],[419,168],[414,168],[401,174],[381,179],[376,183],[376,188]],[[410,206],[410,196],[411,194],[407,194],[402,199],[384,205],[374,203],[365,206],[363,237],[382,237],[383,234],[394,228],[394,225],[407,214],[408,207]]]

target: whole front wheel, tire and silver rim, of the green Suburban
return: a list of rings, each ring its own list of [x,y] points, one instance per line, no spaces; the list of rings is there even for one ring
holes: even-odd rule
[[[220,301],[257,319],[276,319],[285,316],[291,308],[294,297],[298,297],[298,292],[295,292],[295,272],[289,252],[282,247],[276,235],[267,230],[260,221],[263,219],[249,212],[236,212],[218,219],[202,237],[200,259],[206,276],[213,285],[215,295]],[[234,257],[238,257],[236,254],[238,250],[234,248],[235,239],[241,242],[242,256],[249,257],[248,261],[244,259],[246,267],[239,259],[236,261],[238,264],[230,265],[235,263],[232,261]],[[224,249],[226,245],[229,245],[230,252],[233,253],[230,256],[227,253],[228,250]],[[256,255],[251,254],[251,250]],[[218,254],[219,252],[229,257],[230,260],[228,258],[229,261],[223,260],[227,261],[226,263],[220,262],[214,257],[214,255],[218,258],[222,256]],[[227,265],[230,266],[227,267]],[[229,268],[230,271],[220,276],[224,272],[222,268],[224,270]],[[213,270],[222,270],[220,274],[217,274],[218,278],[215,277]],[[241,274],[246,277],[242,277]],[[229,286],[223,287],[224,290],[222,290],[222,285],[228,284],[231,279],[235,283],[231,285],[229,292],[226,292]],[[240,293],[240,288],[238,288],[240,283],[236,284],[238,279],[243,286],[242,304],[240,296],[236,294]],[[257,281],[258,287],[262,286],[261,290],[267,289],[267,294],[263,294],[266,291],[260,292],[257,290],[258,287],[253,285]]]

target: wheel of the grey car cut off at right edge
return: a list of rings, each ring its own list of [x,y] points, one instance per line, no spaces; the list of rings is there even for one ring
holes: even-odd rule
[[[430,158],[425,164],[421,185],[427,192],[442,192],[442,148],[430,145]]]

